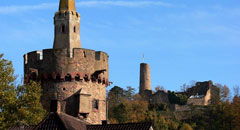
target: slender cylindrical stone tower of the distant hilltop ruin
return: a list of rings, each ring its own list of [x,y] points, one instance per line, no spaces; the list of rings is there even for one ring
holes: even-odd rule
[[[145,90],[151,90],[150,66],[146,63],[140,64],[140,87],[139,93],[143,95]]]

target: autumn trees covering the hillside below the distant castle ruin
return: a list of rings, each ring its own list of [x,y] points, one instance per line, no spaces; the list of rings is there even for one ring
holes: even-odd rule
[[[227,98],[229,91],[226,85],[222,87],[221,100],[216,105],[200,110],[193,106],[189,112],[172,112],[164,104],[149,104],[131,87],[124,90],[115,86],[108,92],[109,121],[152,122],[156,130],[239,130],[240,96],[235,95],[230,101]]]

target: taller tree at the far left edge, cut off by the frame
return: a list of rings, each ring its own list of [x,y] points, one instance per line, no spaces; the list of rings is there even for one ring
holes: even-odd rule
[[[12,62],[3,59],[0,54],[0,129],[14,124],[16,115],[16,93],[14,86],[14,69]]]

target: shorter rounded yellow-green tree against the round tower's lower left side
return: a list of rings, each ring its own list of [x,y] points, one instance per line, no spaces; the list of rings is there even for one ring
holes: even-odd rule
[[[40,102],[41,85],[30,81],[17,87],[18,121],[26,125],[36,125],[45,116],[45,110]]]

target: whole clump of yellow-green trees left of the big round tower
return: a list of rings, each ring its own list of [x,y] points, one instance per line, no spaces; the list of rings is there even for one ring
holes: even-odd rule
[[[45,110],[40,103],[41,86],[31,81],[14,86],[15,76],[12,62],[0,55],[0,129],[14,125],[36,125]]]

